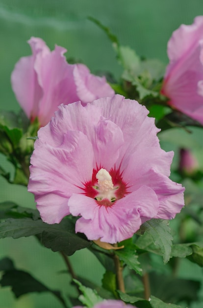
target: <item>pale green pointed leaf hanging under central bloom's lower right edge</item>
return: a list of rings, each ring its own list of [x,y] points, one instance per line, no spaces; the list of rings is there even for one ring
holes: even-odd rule
[[[162,219],[151,219],[146,221],[141,228],[152,236],[153,243],[161,249],[164,263],[167,263],[171,256],[173,240],[171,229],[169,227],[169,221]]]

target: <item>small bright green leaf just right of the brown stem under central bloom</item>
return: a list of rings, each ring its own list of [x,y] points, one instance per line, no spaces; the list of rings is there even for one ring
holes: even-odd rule
[[[136,246],[129,240],[122,242],[121,244],[125,247],[120,250],[115,250],[115,254],[119,256],[119,259],[124,261],[129,269],[134,270],[137,274],[142,275],[142,268],[140,262],[138,261],[138,255],[136,253]],[[127,243],[127,245],[125,244]]]

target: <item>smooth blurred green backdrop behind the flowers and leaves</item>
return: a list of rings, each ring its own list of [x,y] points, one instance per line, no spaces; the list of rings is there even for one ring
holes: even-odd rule
[[[0,109],[20,109],[11,90],[10,74],[19,58],[30,54],[26,41],[31,36],[43,38],[51,49],[54,44],[67,48],[67,58],[85,63],[92,72],[110,71],[119,79],[121,67],[111,42],[88,16],[101,21],[122,45],[134,48],[138,55],[167,64],[167,41],[172,31],[182,23],[191,24],[197,15],[203,15],[202,0],[0,0]],[[169,144],[165,145],[167,150],[173,147]],[[0,164],[12,172],[2,155]],[[35,206],[24,187],[0,179],[0,202],[6,200]],[[4,256],[12,257],[19,269],[30,270],[49,287],[62,289],[64,294],[74,292],[67,275],[59,274],[65,270],[61,256],[40,246],[34,238],[1,240],[0,258]],[[104,270],[89,251],[78,251],[71,260],[76,273],[101,281]],[[194,277],[202,275],[195,264],[190,271]],[[185,267],[182,275],[186,275]],[[9,288],[0,289],[0,308],[24,307],[61,306],[49,294],[26,295],[15,301]]]

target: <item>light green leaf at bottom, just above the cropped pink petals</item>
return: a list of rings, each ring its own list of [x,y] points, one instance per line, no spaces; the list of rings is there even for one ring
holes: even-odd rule
[[[91,308],[94,307],[96,304],[100,303],[103,299],[97,294],[95,290],[87,288],[83,286],[78,280],[73,279],[74,282],[79,286],[79,290],[82,292],[83,295],[79,296],[79,300],[83,305]]]

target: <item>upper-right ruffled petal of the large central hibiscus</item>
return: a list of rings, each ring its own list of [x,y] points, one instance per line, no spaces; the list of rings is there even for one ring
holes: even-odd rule
[[[149,111],[145,106],[118,94],[112,98],[100,98],[92,104],[98,107],[102,105],[102,116],[118,125],[123,132],[124,145],[120,150],[117,167],[124,156],[127,159],[138,147],[160,147],[156,136],[159,129],[154,125],[154,119],[147,117]]]

